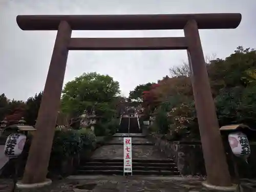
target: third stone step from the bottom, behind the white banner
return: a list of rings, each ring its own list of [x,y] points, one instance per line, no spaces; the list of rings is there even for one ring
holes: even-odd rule
[[[86,162],[81,163],[82,166],[123,166],[122,162]],[[169,163],[142,163],[133,162],[133,166],[149,166],[149,167],[176,167],[174,162]]]

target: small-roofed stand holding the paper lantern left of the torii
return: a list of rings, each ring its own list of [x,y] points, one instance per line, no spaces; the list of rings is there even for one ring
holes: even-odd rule
[[[20,120],[23,121],[23,120]],[[28,140],[28,132],[29,131],[36,131],[36,129],[33,126],[30,125],[24,125],[21,124],[21,122],[19,122],[20,124],[17,125],[10,125],[6,128],[7,131],[10,130],[10,135],[12,134],[17,134],[17,133],[21,133],[24,134],[26,136],[26,142]],[[7,139],[8,140],[8,139]],[[25,142],[25,144],[26,144]],[[6,141],[7,144],[7,141]],[[22,158],[24,156],[24,153],[21,153],[19,156],[17,157],[9,157],[9,160],[13,160],[14,163],[14,174],[13,174],[13,187],[11,189],[11,192],[14,192],[16,189],[16,184],[18,181],[18,168],[20,166],[20,158]]]

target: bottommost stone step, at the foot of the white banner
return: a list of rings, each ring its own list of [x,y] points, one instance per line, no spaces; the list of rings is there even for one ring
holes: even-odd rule
[[[78,170],[76,175],[123,175],[123,170]],[[133,170],[133,175],[179,175],[173,170]]]

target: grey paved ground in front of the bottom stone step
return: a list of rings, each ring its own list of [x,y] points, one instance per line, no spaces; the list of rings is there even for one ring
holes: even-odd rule
[[[11,189],[10,180],[0,180],[0,192]],[[9,185],[9,186],[8,186]],[[256,191],[256,181],[244,183],[243,192]],[[2,186],[2,189],[1,189]],[[37,189],[17,189],[17,192],[71,192],[74,188],[91,192],[212,192],[201,185],[199,178],[143,176],[78,176],[55,181]],[[218,192],[218,191],[215,191]]]

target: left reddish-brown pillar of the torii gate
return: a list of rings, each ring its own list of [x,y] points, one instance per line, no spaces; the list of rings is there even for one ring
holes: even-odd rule
[[[71,33],[70,25],[60,22],[22,183],[46,180]]]

